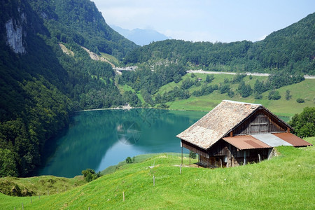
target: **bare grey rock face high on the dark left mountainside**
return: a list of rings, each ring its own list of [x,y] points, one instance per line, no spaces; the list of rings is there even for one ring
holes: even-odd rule
[[[26,32],[23,33],[22,22],[26,21],[25,14],[21,15],[21,23],[17,23],[15,20],[10,18],[6,22],[6,41],[10,48],[15,53],[25,53],[25,45],[23,44],[23,38],[27,35]]]

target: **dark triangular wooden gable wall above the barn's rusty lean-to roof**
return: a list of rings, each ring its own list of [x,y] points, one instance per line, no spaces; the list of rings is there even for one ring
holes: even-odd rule
[[[233,131],[233,136],[286,132],[286,126],[278,121],[274,116],[261,109],[256,111],[244,123],[241,123]]]

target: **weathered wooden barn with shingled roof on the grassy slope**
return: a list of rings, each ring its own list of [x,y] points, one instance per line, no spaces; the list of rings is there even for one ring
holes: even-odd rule
[[[176,137],[205,167],[235,167],[269,159],[275,146],[311,146],[260,104],[224,100]]]

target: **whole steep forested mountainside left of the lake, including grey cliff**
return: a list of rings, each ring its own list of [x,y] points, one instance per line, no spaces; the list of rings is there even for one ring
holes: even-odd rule
[[[0,176],[25,176],[69,113],[125,103],[111,65],[82,47],[121,59],[137,45],[106,25],[92,1],[5,0],[0,7]]]

